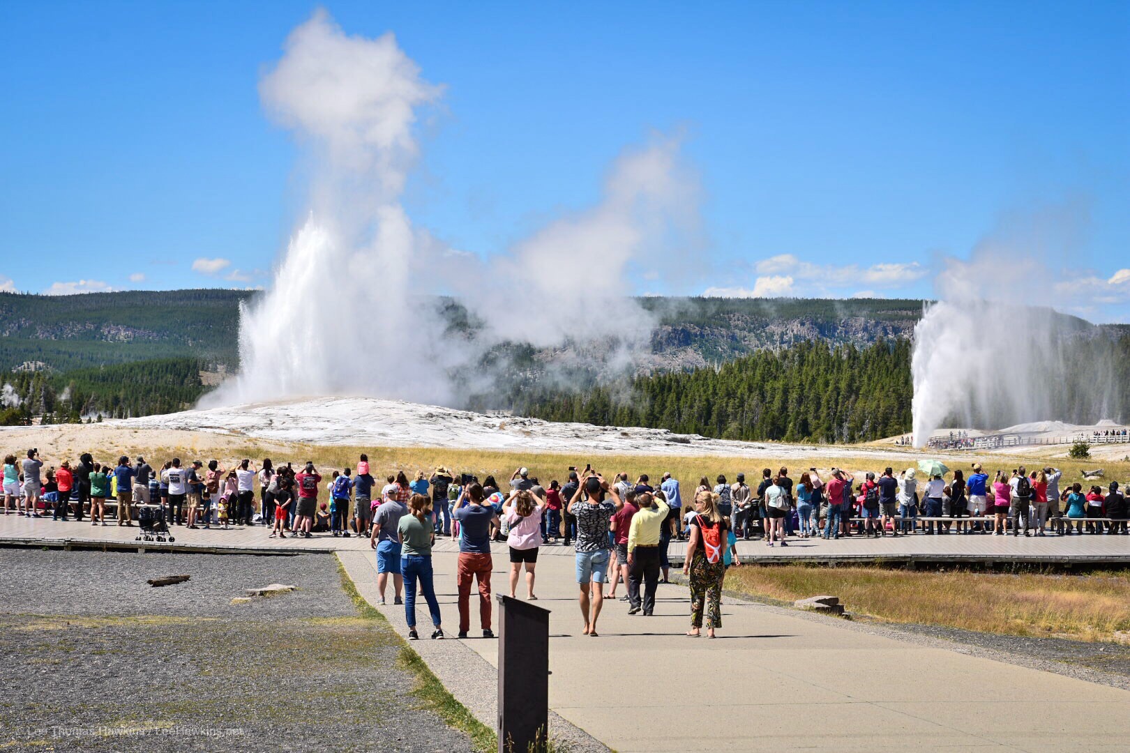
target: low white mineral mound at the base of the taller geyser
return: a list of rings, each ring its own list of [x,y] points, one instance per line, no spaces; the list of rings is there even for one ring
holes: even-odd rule
[[[445,447],[548,453],[809,457],[842,448],[755,444],[666,429],[554,423],[375,397],[307,397],[107,421],[114,429],[176,429],[312,445]],[[853,450],[868,454],[868,450]]]

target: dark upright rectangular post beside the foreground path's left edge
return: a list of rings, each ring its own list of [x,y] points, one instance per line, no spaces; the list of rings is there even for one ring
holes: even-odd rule
[[[498,595],[498,753],[545,753],[549,739],[549,610]]]

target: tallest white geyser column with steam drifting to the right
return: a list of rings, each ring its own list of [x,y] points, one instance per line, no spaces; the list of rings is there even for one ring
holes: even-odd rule
[[[677,138],[654,137],[612,166],[601,202],[480,259],[414,228],[401,194],[429,84],[391,34],[347,36],[318,11],[268,72],[264,108],[314,166],[310,213],[275,282],[241,316],[240,376],[206,404],[362,394],[453,404],[453,374],[503,342],[547,348],[614,340],[623,354],[653,319],[631,295],[698,237],[697,182]],[[412,292],[415,291],[415,292]],[[437,294],[480,327],[449,333]]]

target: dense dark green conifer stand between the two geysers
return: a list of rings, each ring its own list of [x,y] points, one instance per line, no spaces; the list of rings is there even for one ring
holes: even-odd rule
[[[579,393],[529,389],[514,411],[720,439],[851,443],[906,431],[912,397],[909,340],[862,349],[809,341]]]

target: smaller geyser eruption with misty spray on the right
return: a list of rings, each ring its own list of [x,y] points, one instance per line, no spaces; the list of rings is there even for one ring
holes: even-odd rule
[[[1044,261],[1076,244],[1078,207],[1018,217],[970,261],[947,259],[939,301],[914,330],[914,441],[947,421],[1000,429],[1037,420],[1094,423],[1120,411],[1107,341],[1054,312],[1057,274]]]

